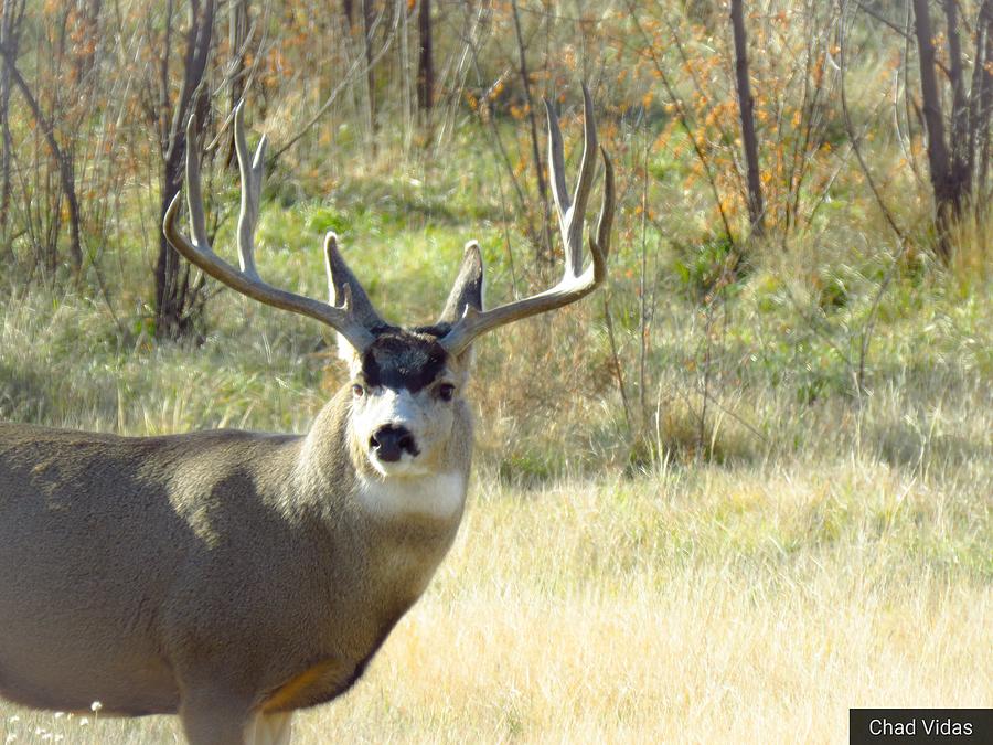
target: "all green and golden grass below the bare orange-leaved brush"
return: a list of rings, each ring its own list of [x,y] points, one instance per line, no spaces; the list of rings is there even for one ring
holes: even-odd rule
[[[434,320],[469,237],[491,305],[514,279],[542,287],[546,268],[493,224],[492,185],[446,168],[471,156],[473,183],[501,178],[468,150],[345,173],[321,200],[277,194],[260,273],[320,297],[333,228],[397,322]],[[653,196],[680,223],[668,189]],[[356,689],[300,717],[300,741],[843,742],[850,706],[993,705],[984,233],[963,228],[942,269],[846,199],[716,289],[726,246],[686,224],[641,237],[622,210],[605,291],[480,340],[456,546]],[[108,301],[6,278],[0,418],[302,432],[344,382],[329,334],[228,291],[202,344],[153,343],[147,262],[120,262]],[[93,714],[0,704],[0,742],[179,733]]]

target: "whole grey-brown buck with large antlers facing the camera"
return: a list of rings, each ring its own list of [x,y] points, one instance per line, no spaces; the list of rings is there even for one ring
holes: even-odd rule
[[[349,382],[302,435],[216,429],[158,437],[0,424],[0,695],[102,715],[177,714],[192,745],[288,743],[292,713],[366,670],[424,594],[465,508],[473,445],[473,341],[604,284],[613,169],[583,87],[584,149],[567,191],[545,102],[565,270],[545,291],[483,308],[480,247],[466,245],[430,326],[387,323],[324,237],[330,301],[264,281],[254,233],[266,138],[250,155],[234,113],[239,268],[207,240],[194,123],[186,128],[186,237],[169,243],[236,292],[321,321]],[[584,269],[584,221],[604,162]]]

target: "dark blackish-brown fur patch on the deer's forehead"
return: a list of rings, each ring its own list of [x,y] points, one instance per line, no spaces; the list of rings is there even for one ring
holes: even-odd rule
[[[372,386],[417,393],[445,370],[448,354],[429,334],[389,330],[380,333],[362,355],[362,374]]]

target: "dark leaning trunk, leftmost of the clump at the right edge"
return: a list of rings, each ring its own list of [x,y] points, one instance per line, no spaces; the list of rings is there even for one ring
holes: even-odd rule
[[[948,260],[951,256],[948,228],[958,215],[959,203],[952,188],[951,161],[944,137],[944,116],[941,110],[938,78],[935,74],[935,44],[928,0],[914,0],[914,32],[917,35],[920,58],[920,93],[925,127],[928,131],[928,168],[931,189],[935,192],[938,253],[943,260]]]

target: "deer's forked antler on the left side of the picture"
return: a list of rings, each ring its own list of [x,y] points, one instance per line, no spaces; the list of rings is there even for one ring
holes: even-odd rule
[[[243,102],[244,103],[244,102]],[[363,350],[372,343],[374,337],[372,327],[378,322],[378,316],[373,310],[361,286],[352,288],[351,285],[342,286],[339,304],[338,295],[334,295],[335,305],[331,306],[320,300],[313,300],[301,295],[287,292],[265,283],[258,276],[255,267],[255,224],[258,221],[258,202],[261,195],[261,182],[264,171],[264,156],[266,138],[263,136],[250,158],[248,145],[245,141],[243,125],[243,103],[235,108],[234,130],[235,151],[238,156],[238,170],[242,180],[242,209],[238,214],[238,263],[241,272],[214,253],[207,241],[206,221],[203,212],[203,196],[200,185],[200,160],[193,141],[193,117],[186,124],[186,205],[190,211],[190,232],[193,241],[186,238],[175,224],[179,212],[180,194],[177,194],[169,209],[162,230],[166,238],[186,259],[206,272],[236,292],[246,295],[253,300],[258,300],[282,310],[291,310],[316,318],[341,333],[356,349]],[[340,272],[344,260],[338,252],[338,236],[328,232],[324,236],[324,263],[328,269],[329,285],[333,269]],[[333,267],[333,269],[332,269]],[[354,277],[349,273],[349,278]],[[353,291],[354,289],[354,291]]]

